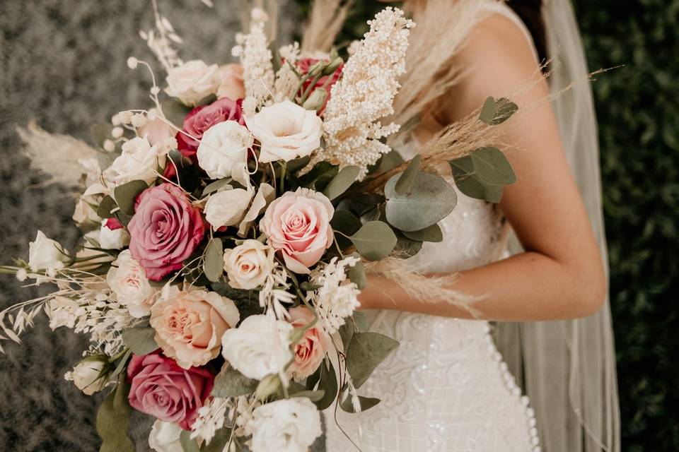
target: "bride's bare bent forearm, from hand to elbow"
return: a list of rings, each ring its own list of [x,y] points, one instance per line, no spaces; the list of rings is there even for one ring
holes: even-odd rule
[[[459,273],[449,289],[476,297],[477,319],[536,321],[569,319],[596,312],[605,284],[599,275],[535,252],[525,252]],[[420,300],[393,280],[371,276],[361,292],[361,309],[396,309],[436,316],[474,318],[455,300]],[[453,302],[451,302],[453,301]]]

